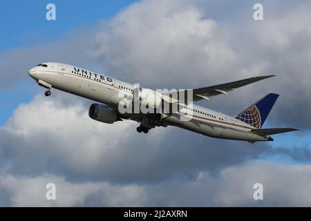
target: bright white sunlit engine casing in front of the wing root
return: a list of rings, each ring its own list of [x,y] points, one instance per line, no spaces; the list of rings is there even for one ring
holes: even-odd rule
[[[162,94],[148,88],[134,88],[132,98],[146,108],[158,108],[162,102]]]

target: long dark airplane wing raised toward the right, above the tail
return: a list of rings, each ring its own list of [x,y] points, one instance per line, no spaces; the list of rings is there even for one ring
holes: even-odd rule
[[[274,77],[276,75],[267,75],[267,76],[260,76],[260,77],[249,77],[247,79],[239,80],[239,81],[233,81],[225,84],[218,84],[215,86],[209,86],[205,88],[197,88],[193,89],[192,93],[194,95],[193,101],[196,102],[200,99],[207,99],[209,100],[209,97],[216,96],[216,95],[227,95],[227,92],[234,90],[236,88],[241,88],[243,86],[246,86],[247,84],[252,84],[256,81],[261,81],[263,79]],[[178,92],[176,92],[178,93]],[[172,95],[173,93],[164,93],[164,95]]]

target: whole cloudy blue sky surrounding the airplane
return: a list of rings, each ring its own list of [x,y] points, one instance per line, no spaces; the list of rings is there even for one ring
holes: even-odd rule
[[[56,21],[46,20],[46,5]],[[0,206],[310,206],[311,3],[261,1],[5,1],[0,15]],[[236,115],[278,93],[249,144],[180,128],[88,117],[93,103],[44,97],[28,70],[57,61],[146,88],[199,88],[276,77],[198,104]],[[57,186],[46,200],[45,186]],[[253,199],[260,182],[264,200]]]

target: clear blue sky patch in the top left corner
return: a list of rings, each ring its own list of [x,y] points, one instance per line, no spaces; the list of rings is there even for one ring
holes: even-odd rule
[[[2,1],[0,50],[39,44],[61,37],[68,30],[109,19],[133,0],[114,1]],[[46,5],[55,3],[56,21],[46,21]]]

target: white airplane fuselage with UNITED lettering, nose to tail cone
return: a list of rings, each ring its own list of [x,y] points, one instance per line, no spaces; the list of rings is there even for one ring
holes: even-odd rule
[[[95,102],[106,104],[117,111],[120,102],[120,93],[131,96],[134,84],[129,84],[113,77],[100,75],[86,69],[77,68],[68,64],[45,63],[47,67],[37,66],[29,71],[32,78],[44,81],[53,88],[65,91],[80,97],[91,99]],[[193,104],[191,119],[184,121],[182,116],[187,116],[185,108],[169,115],[165,120],[171,126],[178,126],[189,131],[194,131],[210,137],[230,140],[267,141],[269,137],[250,133],[256,129],[235,117],[212,111],[202,106]],[[117,111],[118,113],[118,111]],[[120,113],[119,113],[120,114]],[[120,117],[134,119],[141,122],[141,116],[120,114]]]

